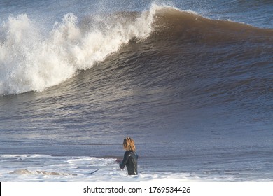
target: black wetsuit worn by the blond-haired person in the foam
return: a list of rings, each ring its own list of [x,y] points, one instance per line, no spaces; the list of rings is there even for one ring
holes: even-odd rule
[[[134,151],[126,151],[124,153],[123,161],[120,162],[120,168],[123,169],[126,165],[127,171],[129,175],[137,175],[137,159],[139,155],[137,155]]]

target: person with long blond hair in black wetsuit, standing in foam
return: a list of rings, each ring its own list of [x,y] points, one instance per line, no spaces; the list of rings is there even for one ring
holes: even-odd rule
[[[126,165],[128,175],[137,175],[137,159],[139,155],[136,153],[134,140],[130,137],[126,137],[123,140],[123,148],[125,149],[123,161],[118,161],[120,162],[120,168],[123,169]]]

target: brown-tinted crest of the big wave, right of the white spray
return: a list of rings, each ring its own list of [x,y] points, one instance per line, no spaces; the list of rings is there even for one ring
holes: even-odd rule
[[[225,41],[273,42],[272,29],[260,29],[228,20],[211,20],[193,12],[162,8],[154,15],[153,38],[217,43]]]

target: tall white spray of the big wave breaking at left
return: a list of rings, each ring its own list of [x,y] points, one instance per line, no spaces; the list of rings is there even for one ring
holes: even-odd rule
[[[0,29],[0,95],[40,92],[102,62],[130,39],[147,38],[158,9],[160,6],[153,5],[133,21],[104,22],[104,31],[99,27],[87,32],[80,29],[72,13],[64,15],[48,33],[27,15],[8,18]]]

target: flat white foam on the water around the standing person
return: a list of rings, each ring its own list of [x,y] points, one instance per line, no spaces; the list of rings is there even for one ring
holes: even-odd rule
[[[16,161],[17,160],[17,161]],[[15,164],[15,162],[18,162]],[[31,162],[35,162],[35,165]],[[115,158],[52,157],[50,155],[1,155],[1,163],[10,164],[1,168],[1,181],[45,181],[45,182],[137,182],[137,181],[221,181],[221,179],[200,179],[190,174],[139,174],[128,176],[126,169],[119,169]],[[27,169],[18,169],[27,167]],[[29,164],[32,166],[29,167]],[[92,173],[94,172],[94,173]],[[230,179],[232,181],[232,179]]]

